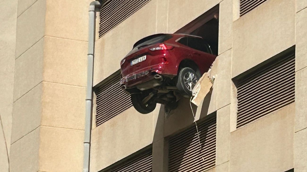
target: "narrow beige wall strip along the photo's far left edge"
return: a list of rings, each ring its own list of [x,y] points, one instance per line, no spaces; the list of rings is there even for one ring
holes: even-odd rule
[[[0,2],[0,171],[9,171],[17,0]]]

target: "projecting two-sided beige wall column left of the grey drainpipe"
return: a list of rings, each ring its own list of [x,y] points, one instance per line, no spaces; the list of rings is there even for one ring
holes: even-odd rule
[[[82,170],[90,2],[18,1],[11,171]]]

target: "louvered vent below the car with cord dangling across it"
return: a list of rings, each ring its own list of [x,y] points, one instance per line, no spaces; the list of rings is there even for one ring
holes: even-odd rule
[[[215,166],[216,114],[172,136],[169,140],[169,172],[199,172]]]

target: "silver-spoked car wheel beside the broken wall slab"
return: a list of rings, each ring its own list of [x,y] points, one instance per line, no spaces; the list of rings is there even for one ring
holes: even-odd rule
[[[184,96],[191,97],[192,89],[194,88],[196,82],[199,80],[197,73],[191,68],[182,68],[178,75],[177,89]]]

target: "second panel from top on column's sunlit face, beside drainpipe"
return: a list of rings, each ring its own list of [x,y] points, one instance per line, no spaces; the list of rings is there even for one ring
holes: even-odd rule
[[[87,42],[45,37],[44,81],[86,86]]]

